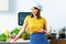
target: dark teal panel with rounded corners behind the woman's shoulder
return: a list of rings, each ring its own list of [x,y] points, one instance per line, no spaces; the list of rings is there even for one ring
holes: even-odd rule
[[[31,12],[19,12],[18,13],[18,23],[19,25],[23,25],[23,21],[25,19],[26,15],[30,15]]]

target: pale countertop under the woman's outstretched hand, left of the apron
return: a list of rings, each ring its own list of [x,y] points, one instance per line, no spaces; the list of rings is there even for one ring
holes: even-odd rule
[[[15,42],[0,42],[0,44],[29,44],[30,40],[22,40],[22,38],[19,38],[16,40]],[[50,40],[48,40],[50,42]]]

